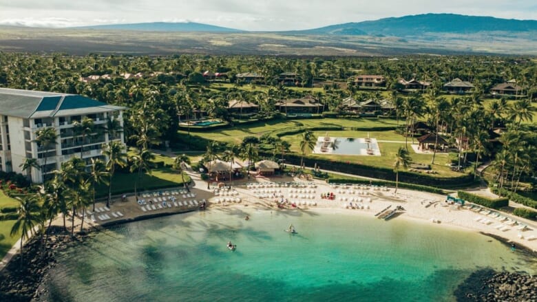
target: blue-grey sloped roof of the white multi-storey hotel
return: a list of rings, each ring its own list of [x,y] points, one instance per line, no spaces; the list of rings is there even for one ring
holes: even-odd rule
[[[78,94],[0,88],[0,114],[19,118],[52,118],[125,109]]]

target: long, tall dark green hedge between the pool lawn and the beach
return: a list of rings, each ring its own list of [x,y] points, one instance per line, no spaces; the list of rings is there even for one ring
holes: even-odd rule
[[[270,157],[271,154],[260,155]],[[286,155],[286,163],[300,164],[300,155]],[[333,160],[324,160],[321,158],[304,158],[304,164],[308,167],[313,167],[315,164],[321,169],[335,171],[340,173],[348,173],[352,175],[367,175],[368,177],[378,178],[379,180],[395,181],[395,173],[393,169],[383,168],[379,166],[367,166],[365,164],[356,164],[352,162],[337,162]],[[412,173],[408,171],[399,172],[399,182],[408,184],[419,184],[422,186],[436,186],[441,188],[453,188],[454,186],[468,186],[474,184],[474,175],[461,175],[457,177],[435,177],[420,173]]]

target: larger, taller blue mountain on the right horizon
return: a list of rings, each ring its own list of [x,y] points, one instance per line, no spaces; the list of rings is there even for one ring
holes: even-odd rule
[[[359,23],[330,25],[293,34],[339,34],[416,36],[419,34],[473,34],[477,32],[537,31],[535,20],[498,19],[494,17],[463,16],[461,14],[418,14]]]

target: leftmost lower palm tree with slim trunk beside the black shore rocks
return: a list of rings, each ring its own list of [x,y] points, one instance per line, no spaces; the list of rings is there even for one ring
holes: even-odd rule
[[[17,221],[13,224],[10,236],[14,237],[17,233],[21,233],[21,268],[23,264],[23,241],[30,239],[34,234],[34,227],[36,224],[39,224],[41,215],[39,214],[41,208],[37,203],[37,200],[34,195],[29,195],[27,197],[19,198],[19,210],[17,213]]]

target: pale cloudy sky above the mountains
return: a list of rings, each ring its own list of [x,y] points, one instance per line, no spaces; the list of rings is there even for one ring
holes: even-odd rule
[[[143,22],[198,22],[250,31],[448,12],[537,20],[535,0],[0,0],[0,24],[63,28]]]

